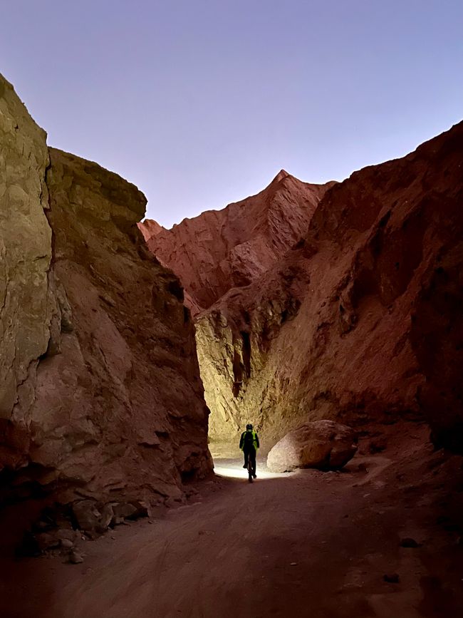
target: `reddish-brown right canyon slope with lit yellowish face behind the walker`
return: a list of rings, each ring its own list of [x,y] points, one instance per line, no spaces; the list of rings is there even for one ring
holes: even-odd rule
[[[425,413],[462,448],[463,123],[326,192],[303,241],[197,321],[215,439]]]

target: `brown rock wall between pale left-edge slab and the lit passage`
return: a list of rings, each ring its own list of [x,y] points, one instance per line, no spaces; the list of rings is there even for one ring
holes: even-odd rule
[[[208,470],[207,408],[180,284],[135,225],[145,197],[53,149],[48,187],[53,272],[71,324],[66,354],[39,366],[34,416],[46,409],[47,424],[33,460],[58,458],[62,474],[85,475],[96,493],[178,493],[182,475]]]

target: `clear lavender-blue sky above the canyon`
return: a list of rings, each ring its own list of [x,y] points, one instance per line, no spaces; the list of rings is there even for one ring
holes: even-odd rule
[[[50,145],[170,227],[404,155],[463,118],[462,0],[0,2],[0,72]]]

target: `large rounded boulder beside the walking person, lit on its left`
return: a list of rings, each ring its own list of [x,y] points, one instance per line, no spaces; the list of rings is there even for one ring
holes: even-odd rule
[[[356,451],[357,436],[352,428],[334,421],[314,421],[286,433],[271,449],[267,467],[271,472],[339,470]]]

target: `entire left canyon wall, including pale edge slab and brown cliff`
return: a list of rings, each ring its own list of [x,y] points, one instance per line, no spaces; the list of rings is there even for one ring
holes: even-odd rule
[[[48,150],[0,78],[0,502],[181,498],[212,468],[194,327],[145,197]]]

